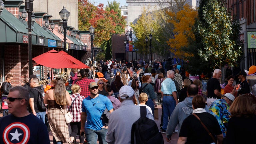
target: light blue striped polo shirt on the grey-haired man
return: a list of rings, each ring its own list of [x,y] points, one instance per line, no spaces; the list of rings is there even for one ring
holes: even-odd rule
[[[162,82],[161,91],[162,91],[164,94],[172,94],[172,92],[177,91],[174,81],[173,81],[171,78],[166,78],[166,79]]]

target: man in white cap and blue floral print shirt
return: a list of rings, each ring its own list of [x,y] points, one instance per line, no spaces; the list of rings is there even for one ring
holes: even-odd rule
[[[229,113],[229,107],[231,106],[231,104],[233,103],[233,101],[235,100],[235,97],[231,94],[231,93],[226,93],[225,95],[221,96],[222,99],[219,100],[215,100],[209,108],[210,114],[212,114],[213,116],[216,117],[219,125],[220,125],[220,129],[223,133],[223,137],[225,141],[226,138],[226,132],[227,132],[227,124],[229,121],[229,116],[231,115]]]

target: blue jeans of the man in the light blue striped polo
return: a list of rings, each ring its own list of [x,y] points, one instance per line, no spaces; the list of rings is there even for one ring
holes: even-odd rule
[[[176,106],[176,101],[172,96],[164,96],[162,105],[163,105],[163,111],[164,111],[163,130],[166,130],[168,122],[169,122],[169,118]]]

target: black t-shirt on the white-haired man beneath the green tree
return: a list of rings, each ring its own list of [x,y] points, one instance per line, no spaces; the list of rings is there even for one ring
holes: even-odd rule
[[[207,82],[207,97],[217,97],[218,99],[221,99],[221,97],[218,97],[216,94],[214,94],[214,90],[218,90],[220,92],[220,82],[216,78],[211,78]]]

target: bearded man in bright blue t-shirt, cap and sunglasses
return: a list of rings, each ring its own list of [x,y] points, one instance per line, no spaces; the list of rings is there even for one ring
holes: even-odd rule
[[[110,113],[113,112],[113,105],[108,97],[98,94],[98,88],[96,82],[89,84],[91,94],[82,103],[80,134],[85,133],[90,144],[96,144],[97,138],[100,144],[107,144],[106,134],[108,127],[103,123],[101,116],[105,109]],[[84,130],[86,120],[86,130]]]

